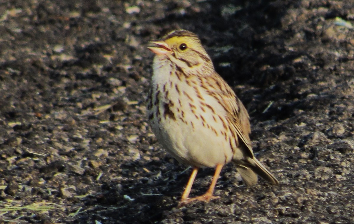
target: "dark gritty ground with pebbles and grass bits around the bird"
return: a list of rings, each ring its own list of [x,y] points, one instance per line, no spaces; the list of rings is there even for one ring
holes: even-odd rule
[[[0,223],[353,223],[354,1],[0,2]],[[190,169],[145,118],[148,41],[199,35],[280,180]],[[203,194],[213,169],[198,174]]]

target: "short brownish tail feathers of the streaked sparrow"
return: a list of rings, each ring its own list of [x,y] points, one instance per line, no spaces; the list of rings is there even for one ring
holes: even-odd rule
[[[249,186],[257,183],[257,174],[274,185],[279,184],[279,181],[256,158],[249,158],[246,164],[237,164],[236,169]]]

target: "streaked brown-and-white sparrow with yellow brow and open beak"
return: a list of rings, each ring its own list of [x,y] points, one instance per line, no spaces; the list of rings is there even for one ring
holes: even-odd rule
[[[173,30],[150,41],[155,56],[147,97],[147,118],[156,139],[177,161],[193,168],[178,207],[219,198],[213,192],[224,166],[235,164],[246,185],[258,175],[279,181],[255,157],[250,117],[232,88],[215,71],[196,34]],[[199,168],[215,168],[205,194],[189,198]]]

